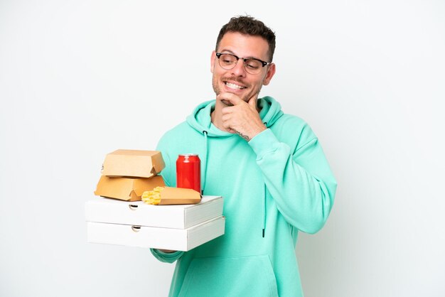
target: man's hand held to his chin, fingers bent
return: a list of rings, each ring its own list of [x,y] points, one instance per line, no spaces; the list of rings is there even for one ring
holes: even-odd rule
[[[230,133],[236,133],[250,141],[266,129],[257,111],[257,95],[251,97],[248,102],[228,92],[221,93],[216,99],[227,105],[221,111],[221,119],[223,127]]]

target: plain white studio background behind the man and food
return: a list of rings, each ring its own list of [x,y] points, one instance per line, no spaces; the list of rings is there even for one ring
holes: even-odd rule
[[[445,2],[151,2],[0,1],[0,296],[166,296],[173,265],[86,242],[85,201],[106,153],[213,99],[218,31],[246,13],[277,33],[262,95],[338,180],[297,245],[306,297],[445,296]]]

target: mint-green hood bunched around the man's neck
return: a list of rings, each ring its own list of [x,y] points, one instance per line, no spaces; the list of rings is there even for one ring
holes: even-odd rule
[[[212,137],[228,137],[233,134],[227,131],[221,131],[216,128],[210,119],[210,113],[215,109],[215,99],[203,102],[199,104],[192,112],[191,115],[187,117],[187,123],[193,127],[199,133],[208,134]],[[282,107],[274,98],[266,96],[258,99],[259,117],[262,119],[264,125],[269,128],[272,126],[279,117],[283,115]]]

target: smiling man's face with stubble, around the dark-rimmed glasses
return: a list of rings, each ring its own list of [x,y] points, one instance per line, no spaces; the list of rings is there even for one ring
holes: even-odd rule
[[[240,58],[257,58],[269,62],[267,51],[269,45],[264,38],[247,36],[237,32],[225,33],[218,45],[218,53],[230,53]],[[262,85],[268,85],[275,73],[275,65],[262,68],[261,72],[252,75],[245,70],[244,61],[238,60],[235,68],[225,70],[218,63],[215,51],[211,57],[212,85],[216,95],[230,92],[245,102],[259,94]]]

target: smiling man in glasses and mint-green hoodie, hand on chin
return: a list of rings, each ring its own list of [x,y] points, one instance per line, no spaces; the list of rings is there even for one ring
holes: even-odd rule
[[[221,28],[210,58],[216,98],[159,141],[176,186],[176,158],[198,153],[204,195],[224,198],[225,234],[189,252],[151,249],[177,261],[170,296],[303,296],[295,245],[328,219],[336,192],[318,139],[272,97],[274,33],[250,16]]]

